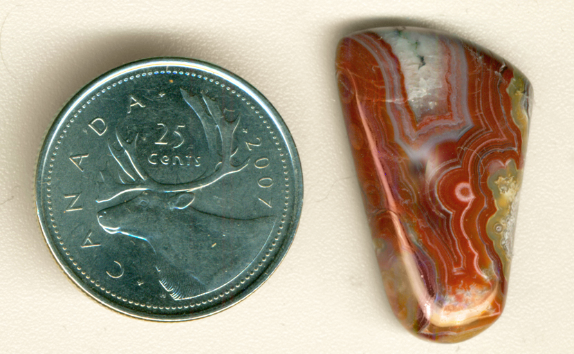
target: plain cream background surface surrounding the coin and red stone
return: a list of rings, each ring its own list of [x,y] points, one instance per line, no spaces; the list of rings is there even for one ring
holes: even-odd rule
[[[573,353],[573,1],[0,1],[0,353]],[[343,35],[426,26],[475,41],[533,83],[535,108],[506,310],[439,345],[391,313],[337,98]],[[84,295],[37,225],[34,169],[68,97],[115,66],[194,57],[253,84],[304,171],[295,243],[257,292],[194,322],[146,322]]]

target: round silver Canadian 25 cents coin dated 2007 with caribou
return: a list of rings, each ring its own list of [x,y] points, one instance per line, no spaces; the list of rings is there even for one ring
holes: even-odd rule
[[[36,178],[41,229],[68,277],[160,321],[216,313],[261,286],[302,207],[277,111],[190,59],[133,62],[85,86],[48,131]]]

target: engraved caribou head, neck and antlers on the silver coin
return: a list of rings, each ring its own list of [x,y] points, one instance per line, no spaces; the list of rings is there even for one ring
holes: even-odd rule
[[[109,234],[149,243],[156,254],[152,263],[158,280],[176,300],[200,295],[206,288],[217,285],[210,282],[225,281],[226,274],[231,274],[228,271],[234,267],[241,271],[258,252],[253,243],[264,242],[257,236],[261,232],[255,231],[263,227],[270,232],[274,223],[270,217],[223,218],[192,207],[195,191],[237,174],[248,165],[248,160],[232,165],[237,152],[233,138],[239,118],[227,120],[219,105],[203,94],[200,98],[183,89],[181,94],[203,124],[210,153],[218,153],[216,147],[221,147],[217,155],[221,160],[211,173],[185,183],[159,183],[138,163],[138,135],[127,142],[116,130],[120,149],[109,145],[109,152],[120,167],[118,178],[122,183],[115,183],[98,198],[98,203],[121,201],[100,210],[98,223]]]

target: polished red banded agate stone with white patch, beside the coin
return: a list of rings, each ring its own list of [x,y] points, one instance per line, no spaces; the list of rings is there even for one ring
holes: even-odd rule
[[[532,88],[443,32],[340,41],[337,81],[385,290],[412,333],[459,342],[504,307]]]

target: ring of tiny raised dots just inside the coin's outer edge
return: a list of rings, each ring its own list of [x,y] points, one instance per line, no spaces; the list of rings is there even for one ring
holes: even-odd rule
[[[279,156],[281,156],[281,163],[282,163],[282,166],[284,169],[284,180],[285,180],[284,185],[286,187],[284,208],[283,208],[283,212],[281,213],[282,217],[281,217],[281,221],[279,224],[279,230],[277,230],[277,234],[275,235],[273,241],[271,242],[270,248],[268,248],[268,250],[263,255],[263,257],[261,257],[261,259],[259,259],[259,263],[257,263],[257,265],[254,265],[252,270],[247,272],[247,274],[243,277],[243,279],[231,280],[228,283],[226,283],[226,285],[227,285],[229,283],[235,282],[234,285],[232,285],[229,289],[219,293],[219,295],[215,295],[215,296],[211,297],[210,299],[206,299],[206,300],[202,300],[202,301],[198,301],[198,302],[192,301],[191,303],[189,303],[187,305],[182,305],[182,306],[156,306],[156,305],[141,303],[140,301],[129,300],[129,299],[122,297],[121,295],[118,295],[115,292],[112,292],[111,290],[105,288],[104,286],[101,285],[99,280],[91,279],[91,275],[88,274],[85,270],[82,270],[82,266],[79,265],[77,263],[77,261],[74,260],[74,257],[71,255],[71,252],[68,250],[66,245],[64,245],[64,241],[62,241],[62,236],[60,236],[59,231],[57,230],[57,224],[55,223],[54,212],[52,211],[53,207],[51,205],[52,204],[51,180],[52,180],[52,172],[53,172],[52,168],[54,167],[53,162],[55,161],[55,156],[57,156],[57,150],[59,149],[59,145],[62,144],[62,140],[66,137],[66,133],[68,131],[68,128],[71,127],[71,124],[73,124],[73,122],[75,121],[75,118],[77,118],[77,116],[80,113],[82,113],[82,110],[85,109],[87,105],[91,104],[91,102],[95,101],[98,97],[100,97],[100,95],[102,95],[103,93],[106,93],[107,91],[110,91],[111,89],[113,89],[114,87],[116,87],[118,85],[121,85],[122,82],[128,82],[129,80],[133,80],[133,79],[140,78],[140,77],[152,77],[153,75],[164,75],[164,74],[170,74],[170,75],[175,74],[175,75],[186,75],[186,76],[191,76],[191,77],[197,77],[198,79],[209,81],[216,86],[221,86],[221,88],[225,88],[226,91],[230,91],[230,93],[236,95],[237,97],[241,97],[241,101],[245,102],[245,104],[250,109],[254,110],[254,113],[257,114],[259,119],[262,120],[262,123],[264,124],[264,126],[268,129],[269,133],[272,134],[272,140],[274,140],[275,145],[277,146],[277,150],[279,151]],[[78,105],[80,105],[80,104],[78,104]],[[212,303],[216,299],[223,299],[227,295],[230,295],[232,292],[239,289],[244,283],[246,283],[247,280],[249,280],[255,274],[255,272],[257,272],[258,270],[261,269],[263,264],[266,263],[266,261],[270,258],[271,252],[273,252],[274,250],[275,250],[275,252],[277,252],[277,248],[275,246],[277,245],[277,241],[279,241],[282,230],[284,229],[284,225],[285,225],[285,221],[286,221],[286,217],[287,217],[287,212],[289,209],[288,206],[290,203],[290,201],[289,201],[289,199],[290,199],[290,195],[289,195],[289,192],[290,192],[289,180],[290,180],[290,178],[289,178],[289,172],[287,169],[288,165],[287,165],[287,159],[285,158],[285,152],[283,151],[283,148],[280,146],[279,139],[277,138],[277,135],[275,135],[275,131],[272,130],[272,126],[270,125],[271,123],[268,122],[268,120],[266,120],[264,118],[265,117],[263,115],[261,115],[258,110],[255,109],[255,106],[252,104],[252,102],[248,101],[248,99],[246,97],[243,97],[243,95],[241,95],[241,93],[237,92],[237,90],[235,88],[232,88],[232,86],[228,86],[225,83],[219,82],[219,80],[215,80],[212,77],[209,77],[207,75],[189,73],[188,71],[170,71],[170,70],[147,71],[145,73],[138,73],[136,75],[130,75],[129,77],[124,77],[118,81],[114,80],[113,84],[109,84],[106,88],[100,89],[97,93],[95,93],[95,95],[90,97],[84,104],[82,104],[80,109],[77,109],[76,111],[74,111],[73,115],[71,115],[71,118],[68,118],[68,122],[66,122],[65,128],[62,129],[62,133],[60,133],[59,138],[57,138],[56,143],[53,146],[53,151],[52,151],[51,156],[50,156],[50,162],[48,164],[48,167],[49,167],[48,168],[48,174],[46,175],[46,202],[48,203],[48,214],[50,215],[50,224],[51,224],[50,226],[53,228],[54,234],[59,241],[58,243],[59,243],[60,247],[62,248],[62,251],[64,251],[64,254],[65,254],[65,257],[64,257],[64,255],[62,255],[62,258],[64,258],[64,259],[67,258],[69,261],[71,261],[72,265],[75,267],[75,269],[78,272],[80,272],[80,274],[84,278],[86,278],[86,280],[88,280],[90,283],[93,283],[97,289],[100,289],[102,292],[105,292],[105,294],[110,295],[111,297],[115,297],[115,299],[122,300],[124,302],[127,302],[128,304],[132,304],[133,306],[140,306],[141,308],[148,308],[148,309],[154,309],[154,310],[156,310],[156,309],[157,310],[164,310],[164,309],[165,310],[182,310],[185,308],[194,308],[196,306],[201,306],[201,305]],[[49,153],[48,153],[48,155],[49,155]],[[266,241],[266,243],[268,243],[268,241]],[[259,253],[261,253],[261,251]]]

